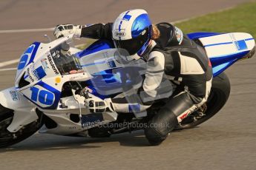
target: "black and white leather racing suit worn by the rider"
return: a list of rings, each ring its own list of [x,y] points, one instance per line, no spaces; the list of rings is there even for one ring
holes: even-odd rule
[[[180,29],[168,23],[156,26],[160,30],[160,38],[154,40],[151,48],[143,55],[147,69],[142,92],[149,97],[156,97],[157,89],[164,79],[175,81],[179,86],[179,90],[168,98],[165,106],[151,120],[151,123],[165,123],[169,127],[159,126],[145,131],[152,137],[158,135],[164,139],[177,123],[207,101],[211,90],[212,69],[203,47],[183,35]],[[112,41],[111,30],[111,23],[93,24],[82,28],[81,37]],[[132,103],[125,98],[113,98],[112,104],[116,112],[132,112]],[[151,102],[139,104],[141,112],[151,106]]]

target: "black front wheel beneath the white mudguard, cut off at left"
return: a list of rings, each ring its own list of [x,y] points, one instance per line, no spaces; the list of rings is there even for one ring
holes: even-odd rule
[[[12,120],[13,110],[7,109],[0,104],[0,148],[19,143],[33,135],[39,129],[39,124],[37,121],[34,121],[24,126],[18,132],[12,133],[7,130],[7,127],[12,123]]]

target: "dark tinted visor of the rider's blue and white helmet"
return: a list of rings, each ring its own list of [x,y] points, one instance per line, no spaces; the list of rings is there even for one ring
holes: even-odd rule
[[[149,29],[144,30],[145,33],[141,33],[136,38],[131,38],[128,40],[114,40],[114,43],[117,48],[127,50],[129,55],[134,55],[137,53],[145,44],[146,41],[148,41],[148,31]]]

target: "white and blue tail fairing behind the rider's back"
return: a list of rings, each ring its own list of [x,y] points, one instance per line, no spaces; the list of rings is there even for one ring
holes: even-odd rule
[[[190,33],[188,37],[199,40],[206,50],[214,77],[255,50],[255,39],[248,33]]]

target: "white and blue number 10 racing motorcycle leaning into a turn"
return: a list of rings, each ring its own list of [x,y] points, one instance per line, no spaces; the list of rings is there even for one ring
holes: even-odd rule
[[[205,122],[229,98],[229,78],[224,70],[255,53],[248,33],[190,33],[206,52],[214,78],[208,101],[183,116],[176,129],[190,129]],[[35,132],[65,136],[110,137],[143,129],[164,104],[157,100],[147,112],[91,112],[85,98],[100,101],[126,95],[141,86],[145,62],[130,64],[109,41],[98,40],[85,50],[72,47],[73,36],[49,43],[34,42],[22,54],[15,86],[0,92],[0,147],[11,146]],[[176,84],[171,82],[175,91]],[[131,90],[134,91],[134,90]],[[136,90],[135,90],[136,91]],[[170,90],[169,90],[170,91]],[[123,126],[115,126],[116,124]]]

